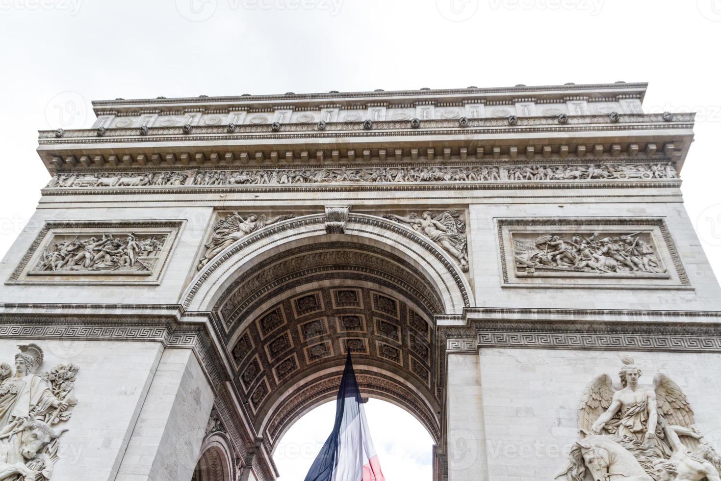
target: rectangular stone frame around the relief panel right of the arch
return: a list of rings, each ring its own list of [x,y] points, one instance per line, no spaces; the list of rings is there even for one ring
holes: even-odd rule
[[[563,283],[549,283],[550,279],[546,279],[544,283],[542,284],[531,284],[531,283],[523,283],[524,280],[533,277],[532,275],[523,275],[522,277],[520,275],[517,275],[516,271],[516,260],[511,257],[508,258],[509,252],[510,255],[513,256],[513,234],[521,233],[523,234],[523,230],[513,231],[513,227],[544,227],[549,228],[549,230],[544,231],[546,234],[566,234],[567,237],[573,236],[575,234],[578,234],[579,232],[586,232],[586,231],[592,231],[593,229],[596,229],[597,231],[603,231],[598,226],[606,227],[606,229],[615,229],[618,233],[622,233],[621,229],[627,228],[629,229],[629,232],[626,234],[629,234],[632,231],[644,231],[648,228],[652,229],[658,229],[658,232],[660,233],[661,239],[655,239],[652,240],[652,242],[658,242],[658,244],[661,245],[655,245],[653,244],[653,247],[656,247],[655,252],[659,252],[660,248],[660,254],[661,254],[661,260],[666,258],[667,262],[670,261],[673,265],[673,268],[675,269],[676,276],[678,278],[678,281],[674,281],[673,283],[623,283],[619,284],[617,286],[611,285],[611,284],[604,284],[601,282],[596,281],[590,281],[588,283],[574,283],[574,284],[568,284],[567,287],[572,288],[673,288],[674,286],[677,286],[678,288],[689,288],[691,286],[691,282],[689,281],[689,276],[686,273],[686,269],[684,268],[683,262],[681,261],[681,256],[678,253],[678,249],[676,248],[675,242],[673,242],[673,238],[671,237],[671,231],[669,231],[667,224],[665,223],[664,219],[659,218],[643,218],[643,217],[618,217],[618,218],[609,218],[609,217],[588,217],[588,218],[515,218],[515,219],[506,219],[506,218],[500,218],[497,219],[497,236],[498,236],[498,246],[499,246],[499,255],[500,255],[500,262],[501,262],[501,268],[503,271],[503,284],[505,287],[516,287],[516,286],[523,286],[523,287],[539,287],[539,288],[545,288],[545,287],[559,287],[559,286],[565,286]],[[533,231],[537,235],[541,235],[540,231]],[[653,234],[653,233],[652,233]],[[653,236],[652,236],[653,239]],[[660,242],[663,241],[663,242]],[[634,244],[635,245],[635,244]],[[510,268],[513,269],[513,273],[509,273],[509,265]],[[666,266],[666,268],[670,269],[671,266]],[[607,273],[607,274],[598,274],[598,281],[602,281],[604,277],[606,276],[613,276],[613,273]],[[557,273],[557,276],[559,278],[575,278],[578,276],[578,273],[574,273],[574,271],[566,270],[564,272]],[[653,277],[654,275],[647,274],[646,277]],[[655,275],[658,277],[659,275]],[[616,277],[618,277],[616,275]],[[511,281],[510,279],[513,278],[515,281]],[[631,279],[632,275],[628,275],[625,277],[626,279]],[[642,276],[637,276],[638,281],[642,281]],[[590,278],[588,278],[590,280]],[[647,279],[646,279],[647,281]],[[661,281],[661,279],[659,279]],[[671,280],[673,281],[673,280]]]

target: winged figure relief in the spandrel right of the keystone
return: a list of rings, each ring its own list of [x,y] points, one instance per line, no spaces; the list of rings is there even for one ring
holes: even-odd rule
[[[418,217],[417,213],[401,217],[389,214],[384,218],[391,221],[408,224],[411,228],[436,244],[443,247],[446,252],[456,257],[461,270],[468,272],[468,242],[466,240],[466,223],[461,221],[461,214],[458,211],[445,211],[433,217],[433,213],[425,211]]]

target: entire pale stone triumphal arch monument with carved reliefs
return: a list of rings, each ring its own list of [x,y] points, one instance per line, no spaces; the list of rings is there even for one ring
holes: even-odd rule
[[[116,99],[41,131],[0,480],[275,480],[348,351],[436,481],[717,480],[694,115],[646,87]]]

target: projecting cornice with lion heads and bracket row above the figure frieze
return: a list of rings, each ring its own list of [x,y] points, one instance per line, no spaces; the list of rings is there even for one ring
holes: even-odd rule
[[[621,115],[613,123],[606,115],[468,120],[423,120],[420,128],[407,121],[334,123],[324,131],[309,124],[239,125],[230,133],[224,125],[110,128],[104,136],[92,129],[41,131],[37,152],[50,172],[96,167],[153,169],[157,167],[276,167],[283,165],[361,162],[570,162],[579,157],[599,162],[628,156],[668,157],[681,170],[693,139],[694,114]],[[658,154],[658,155],[657,155]],[[633,162],[633,161],[632,161]]]

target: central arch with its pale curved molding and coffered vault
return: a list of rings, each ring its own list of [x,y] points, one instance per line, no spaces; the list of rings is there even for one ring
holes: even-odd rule
[[[295,420],[335,397],[345,355],[363,395],[398,405],[443,438],[444,371],[435,316],[461,314],[470,288],[430,239],[351,214],[266,227],[217,255],[188,289],[213,312],[249,425],[268,452]]]

